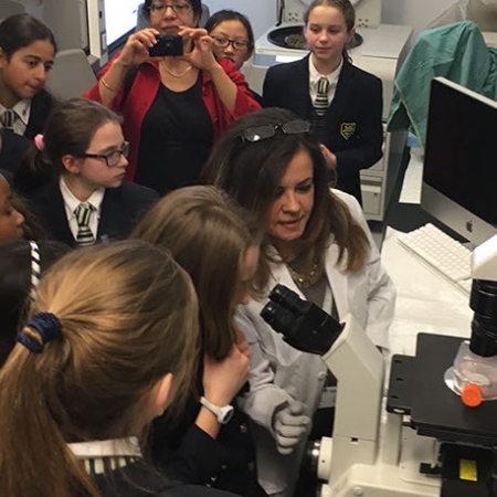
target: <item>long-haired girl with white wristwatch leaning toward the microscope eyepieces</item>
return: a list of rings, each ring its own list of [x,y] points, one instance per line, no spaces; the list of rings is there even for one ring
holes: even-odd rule
[[[248,420],[237,406],[250,352],[234,324],[236,305],[248,302],[257,267],[255,219],[213,187],[186,187],[158,202],[131,236],[169,250],[199,297],[203,357],[198,394],[191,395],[179,424],[167,419],[154,424],[155,459],[171,478],[265,496]]]

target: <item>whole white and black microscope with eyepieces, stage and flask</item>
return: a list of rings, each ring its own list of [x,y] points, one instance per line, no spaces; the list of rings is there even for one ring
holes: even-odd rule
[[[320,497],[497,496],[496,255],[497,235],[473,253],[470,340],[420,332],[415,357],[392,357],[387,395],[383,357],[351,315],[337,322],[283,285],[272,290],[263,319],[338,380]],[[479,402],[463,401],[468,385]]]

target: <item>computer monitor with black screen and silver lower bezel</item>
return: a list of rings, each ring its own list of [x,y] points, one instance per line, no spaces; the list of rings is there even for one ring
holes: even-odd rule
[[[421,207],[475,246],[497,233],[497,102],[443,77],[431,87]]]

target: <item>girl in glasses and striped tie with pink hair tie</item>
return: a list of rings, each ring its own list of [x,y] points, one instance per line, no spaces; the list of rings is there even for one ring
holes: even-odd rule
[[[158,199],[154,190],[124,181],[127,152],[119,117],[74,98],[50,115],[14,186],[52,240],[83,246],[123,239]]]

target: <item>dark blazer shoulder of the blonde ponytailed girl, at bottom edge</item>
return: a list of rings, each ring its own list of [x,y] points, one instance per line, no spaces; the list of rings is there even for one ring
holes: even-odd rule
[[[103,497],[234,497],[211,488],[171,484],[142,463],[134,463],[110,473],[93,475]]]

